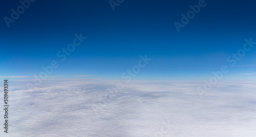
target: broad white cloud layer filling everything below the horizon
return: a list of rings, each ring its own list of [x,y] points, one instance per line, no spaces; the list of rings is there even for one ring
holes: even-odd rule
[[[9,81],[0,136],[256,136],[255,81],[222,81],[202,98],[201,81],[133,81],[110,94],[116,82]]]

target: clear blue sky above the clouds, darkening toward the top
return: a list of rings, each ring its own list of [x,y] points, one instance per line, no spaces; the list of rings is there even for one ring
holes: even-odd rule
[[[58,60],[52,76],[91,75],[121,79],[139,56],[152,58],[134,79],[208,78],[226,58],[243,48],[255,34],[255,1],[205,1],[206,6],[178,33],[181,22],[196,1],[125,0],[112,10],[109,1],[40,1],[31,3],[8,28],[4,17],[19,1],[0,6],[0,76],[38,75],[41,66]],[[63,62],[56,53],[82,33],[87,39]],[[255,48],[230,67],[229,78],[255,73]]]

